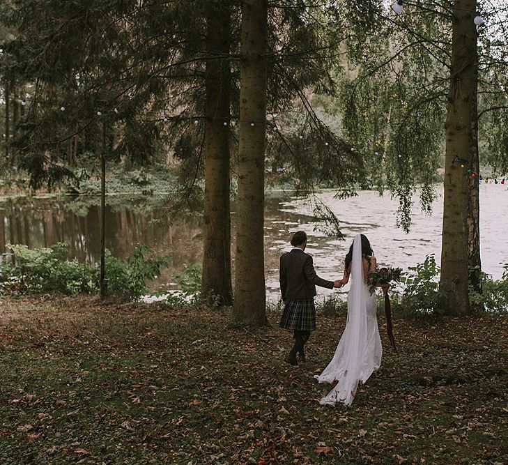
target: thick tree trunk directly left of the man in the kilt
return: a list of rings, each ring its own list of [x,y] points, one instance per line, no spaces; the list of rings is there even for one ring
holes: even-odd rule
[[[259,326],[268,322],[263,247],[267,10],[267,0],[244,0],[242,3],[233,306],[234,321]]]

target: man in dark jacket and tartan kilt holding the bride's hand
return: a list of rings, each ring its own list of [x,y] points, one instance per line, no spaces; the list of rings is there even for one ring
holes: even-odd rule
[[[312,257],[306,254],[307,234],[298,231],[291,239],[293,249],[280,257],[280,291],[285,307],[279,326],[294,330],[295,345],[285,360],[291,365],[298,365],[296,354],[305,362],[303,346],[310,337],[311,330],[316,328],[316,308],[314,296],[316,286],[341,287],[341,280],[327,281],[319,277],[314,270]]]

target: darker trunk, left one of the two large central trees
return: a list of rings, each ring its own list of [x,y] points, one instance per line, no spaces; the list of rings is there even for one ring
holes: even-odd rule
[[[207,8],[205,205],[201,295],[233,303],[229,201],[229,48],[231,20],[224,1]],[[224,125],[224,122],[227,125]]]

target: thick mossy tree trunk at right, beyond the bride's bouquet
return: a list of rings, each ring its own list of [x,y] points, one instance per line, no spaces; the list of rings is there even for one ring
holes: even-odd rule
[[[445,192],[442,219],[440,294],[446,314],[470,314],[468,298],[468,173],[476,94],[475,0],[456,0],[452,26],[452,67],[446,119]]]

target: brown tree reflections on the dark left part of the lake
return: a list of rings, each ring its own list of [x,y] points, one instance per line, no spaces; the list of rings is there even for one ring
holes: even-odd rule
[[[115,257],[128,257],[136,245],[148,245],[153,254],[171,255],[173,261],[153,289],[167,289],[171,274],[184,264],[201,260],[203,246],[197,220],[167,224],[163,211],[146,214],[129,208],[106,206],[106,247]],[[73,211],[70,199],[11,199],[0,204],[0,252],[6,244],[49,247],[63,242],[69,258],[97,264],[100,261],[100,208]]]

